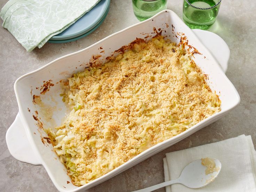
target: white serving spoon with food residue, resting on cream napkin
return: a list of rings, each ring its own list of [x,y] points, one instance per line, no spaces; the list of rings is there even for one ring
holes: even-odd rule
[[[180,183],[191,189],[198,189],[204,187],[214,181],[214,179],[218,176],[219,171],[221,170],[221,162],[218,159],[214,159],[214,161],[217,167],[217,171],[214,171],[213,173],[209,173],[206,175],[205,170],[207,169],[207,167],[202,165],[201,159],[198,159],[184,167],[181,172],[181,176],[179,176],[177,179],[160,183],[134,192],[150,192],[157,190],[161,187],[176,183]]]

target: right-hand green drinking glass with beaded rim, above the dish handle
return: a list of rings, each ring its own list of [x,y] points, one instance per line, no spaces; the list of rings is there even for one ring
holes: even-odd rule
[[[184,0],[183,21],[191,29],[209,29],[215,22],[221,0]]]

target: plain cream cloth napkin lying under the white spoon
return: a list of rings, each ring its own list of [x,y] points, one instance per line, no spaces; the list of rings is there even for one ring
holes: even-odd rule
[[[256,152],[251,136],[240,135],[217,143],[211,143],[166,154],[163,159],[165,181],[176,179],[190,162],[204,158],[216,158],[222,168],[218,177],[200,189],[189,189],[181,184],[166,187],[166,192],[255,192]]]

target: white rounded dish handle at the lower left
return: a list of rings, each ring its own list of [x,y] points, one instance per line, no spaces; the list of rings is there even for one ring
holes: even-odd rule
[[[15,159],[32,165],[42,165],[27,138],[26,130],[19,113],[13,124],[7,130],[6,143],[9,152]]]

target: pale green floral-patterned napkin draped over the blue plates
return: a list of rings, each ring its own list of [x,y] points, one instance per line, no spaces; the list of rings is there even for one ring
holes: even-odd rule
[[[9,0],[2,26],[27,50],[41,48],[93,8],[99,0]]]

